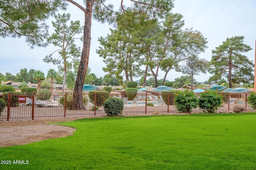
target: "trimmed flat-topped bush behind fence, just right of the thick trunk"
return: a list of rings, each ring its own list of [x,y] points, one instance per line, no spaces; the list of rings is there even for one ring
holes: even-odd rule
[[[96,101],[95,101],[95,95],[96,95]],[[110,96],[110,93],[107,91],[89,91],[89,99],[91,103],[95,103],[97,106],[102,106],[104,101],[108,99]]]

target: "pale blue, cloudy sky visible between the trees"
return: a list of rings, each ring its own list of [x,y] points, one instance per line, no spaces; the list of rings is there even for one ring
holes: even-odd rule
[[[83,4],[82,0],[76,2]],[[114,4],[115,8],[119,8],[121,0],[108,0]],[[126,0],[128,2],[128,0]],[[84,24],[84,13],[73,4],[69,4],[66,11],[60,13],[70,13],[71,20],[80,20],[80,24]],[[244,36],[244,43],[252,47],[252,50],[245,53],[251,61],[255,58],[255,42],[256,42],[256,0],[175,0],[173,13],[182,14],[185,28],[193,28],[198,30],[207,38],[208,48],[204,53],[199,55],[200,58],[205,58],[208,61],[212,58],[212,49],[215,49],[226,38],[234,36]],[[50,34],[54,32],[51,21],[47,21],[50,26]],[[102,58],[96,53],[96,49],[100,46],[98,38],[100,36],[106,37],[110,33],[108,24],[101,24],[92,21],[91,32],[91,47],[89,67],[91,73],[96,74],[97,77],[103,77],[106,73],[102,71],[105,63]],[[82,42],[77,43],[81,46]],[[45,63],[42,59],[58,49],[54,45],[48,47],[35,47],[30,49],[25,38],[0,38],[0,73],[9,72],[16,75],[20,69],[35,69],[40,70],[47,75],[49,69],[58,70],[57,65]],[[174,81],[175,78],[180,77],[182,73],[170,71],[167,75],[169,81]],[[194,79],[198,82],[204,82],[209,79],[210,73],[195,75]],[[159,73],[158,79],[164,77],[164,72]],[[134,80],[138,80],[134,78]]]

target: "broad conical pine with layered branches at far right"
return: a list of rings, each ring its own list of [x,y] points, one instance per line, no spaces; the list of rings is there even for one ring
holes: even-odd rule
[[[254,80],[254,63],[244,53],[252,48],[243,43],[243,36],[227,38],[226,41],[212,50],[211,70],[213,74],[208,81],[218,82],[223,77],[232,83],[248,83]]]

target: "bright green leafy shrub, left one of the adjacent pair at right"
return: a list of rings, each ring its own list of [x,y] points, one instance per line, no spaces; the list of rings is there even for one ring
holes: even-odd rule
[[[192,109],[198,105],[197,96],[193,91],[177,91],[176,98],[174,100],[175,108],[179,113],[191,113]]]

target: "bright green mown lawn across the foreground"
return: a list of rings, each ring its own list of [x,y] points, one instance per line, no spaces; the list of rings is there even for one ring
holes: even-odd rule
[[[0,148],[0,169],[256,169],[256,113],[80,119],[73,136]]]

